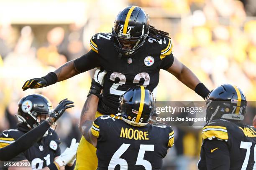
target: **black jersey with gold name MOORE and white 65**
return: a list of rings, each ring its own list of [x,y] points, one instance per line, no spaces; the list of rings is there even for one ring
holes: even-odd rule
[[[165,124],[129,125],[108,115],[92,123],[97,137],[98,170],[160,170],[174,143],[174,131]]]

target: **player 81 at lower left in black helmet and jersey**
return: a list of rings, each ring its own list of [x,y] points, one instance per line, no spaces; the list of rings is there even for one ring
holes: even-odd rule
[[[36,128],[44,120],[49,121],[48,115],[57,119],[66,109],[74,107],[72,104],[72,101],[64,99],[53,110],[51,101],[43,95],[33,94],[23,97],[18,103],[17,117],[20,123],[15,130],[3,131],[0,136],[0,147],[15,142],[16,139]],[[8,161],[31,161],[33,170],[42,168],[44,170],[58,170],[62,167],[73,169],[78,143],[73,139],[70,148],[67,148],[62,154],[59,148],[60,143],[56,132],[49,128],[43,138],[38,140],[31,148]],[[15,170],[17,168],[10,167],[9,169]]]

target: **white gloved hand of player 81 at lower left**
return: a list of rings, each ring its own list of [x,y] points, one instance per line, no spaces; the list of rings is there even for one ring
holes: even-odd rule
[[[72,139],[71,145],[67,148],[56,160],[55,162],[59,164],[60,167],[70,164],[76,157],[78,144],[76,139]]]

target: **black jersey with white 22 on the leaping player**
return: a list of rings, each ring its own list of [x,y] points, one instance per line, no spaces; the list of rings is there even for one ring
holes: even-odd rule
[[[115,111],[118,110],[120,95],[132,86],[143,85],[156,95],[159,70],[168,69],[174,61],[172,40],[166,37],[159,40],[148,37],[136,53],[122,57],[118,57],[111,33],[95,34],[90,46],[99,54],[100,66],[107,71],[102,102]],[[101,107],[98,111],[109,114]]]

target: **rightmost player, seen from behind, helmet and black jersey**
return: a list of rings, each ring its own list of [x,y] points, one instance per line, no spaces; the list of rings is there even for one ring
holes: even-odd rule
[[[256,128],[241,124],[246,97],[236,86],[216,87],[207,97],[200,170],[255,170]]]

